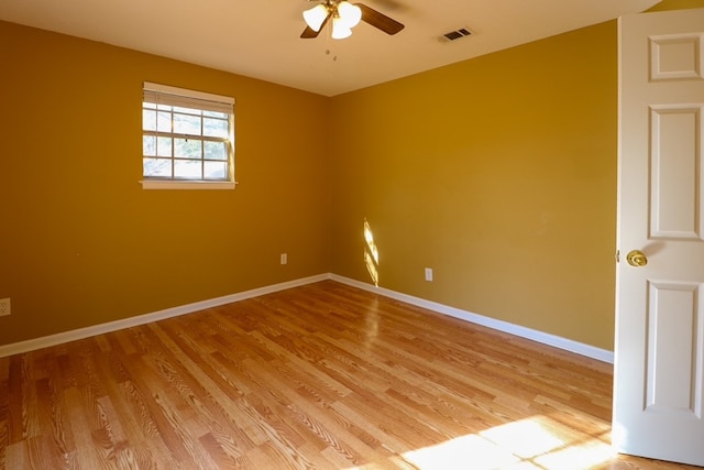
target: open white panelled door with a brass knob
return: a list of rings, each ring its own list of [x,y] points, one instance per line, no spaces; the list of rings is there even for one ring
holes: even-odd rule
[[[613,442],[619,452],[698,466],[703,114],[704,9],[622,18]],[[628,260],[634,250],[642,255]]]

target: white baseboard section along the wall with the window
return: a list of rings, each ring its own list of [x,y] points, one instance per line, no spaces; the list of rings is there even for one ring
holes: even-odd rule
[[[153,321],[163,320],[166,318],[178,317],[180,315],[193,314],[195,311],[204,310],[206,308],[218,307],[224,304],[231,304],[233,302],[244,300],[246,298],[258,297],[260,295],[266,295],[278,291],[285,291],[292,287],[298,287],[306,284],[312,284],[315,282],[329,280],[329,274],[319,274],[310,277],[302,277],[295,281],[288,281],[280,284],[274,284],[265,287],[253,288],[251,291],[241,292],[239,294],[226,295],[223,297],[216,297],[208,300],[195,302],[193,304],[182,305],[179,307],[166,308],[164,310],[154,311],[151,314],[139,315],[136,317],[124,318],[121,320],[110,321],[107,324],[95,325],[91,327],[79,328],[72,331],[59,332],[56,335],[45,336],[42,338],[29,339],[26,341],[20,341],[12,345],[0,346],[0,358],[4,358],[13,354],[21,354],[23,352],[33,351],[35,349],[48,348],[51,346],[62,345],[64,342],[76,341],[84,338],[90,338],[91,336],[103,335],[121,330],[124,328],[131,328],[140,325],[150,324]]]

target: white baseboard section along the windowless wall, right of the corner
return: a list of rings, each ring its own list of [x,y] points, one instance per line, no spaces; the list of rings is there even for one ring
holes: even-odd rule
[[[583,342],[562,338],[556,335],[550,335],[543,331],[538,331],[531,328],[521,327],[520,325],[509,324],[508,321],[497,320],[495,318],[490,318],[483,315],[473,314],[471,311],[461,310],[459,308],[438,304],[437,302],[426,300],[419,297],[414,297],[411,295],[402,294],[384,287],[376,287],[373,284],[363,283],[360,281],[351,280],[349,277],[339,276],[337,274],[330,274],[330,278],[342,284],[348,284],[353,287],[381,294],[385,297],[405,302],[417,307],[427,308],[438,314],[448,315],[450,317],[459,318],[461,320],[470,321],[476,325],[482,325],[484,327],[492,328],[498,331],[504,331],[521,338],[530,339],[542,345],[548,345],[554,348],[563,349],[565,351],[574,352],[576,354],[586,356],[587,358],[596,359],[602,362],[608,362],[612,364],[614,363],[614,351],[596,348],[594,346],[585,345]]]

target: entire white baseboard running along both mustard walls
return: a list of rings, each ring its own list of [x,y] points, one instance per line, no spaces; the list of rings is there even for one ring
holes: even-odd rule
[[[419,297],[414,297],[407,294],[402,294],[399,292],[391,291],[384,287],[376,287],[372,284],[363,283],[349,277],[340,276],[337,274],[330,274],[330,273],[319,274],[310,277],[302,277],[299,280],[288,281],[280,284],[274,284],[271,286],[241,292],[239,294],[231,294],[222,297],[216,297],[208,300],[195,302],[193,304],[182,305],[179,307],[166,308],[164,310],[154,311],[151,314],[139,315],[136,317],[130,317],[121,320],[110,321],[107,324],[100,324],[100,325],[95,325],[91,327],[80,328],[72,331],[59,332],[56,335],[45,336],[42,338],[30,339],[26,341],[20,341],[11,345],[3,345],[3,346],[0,346],[0,358],[4,358],[12,354],[20,354],[23,352],[33,351],[35,349],[47,348],[47,347],[61,345],[64,342],[76,341],[79,339],[89,338],[91,336],[117,331],[124,328],[131,328],[139,325],[145,325],[152,321],[158,321],[166,318],[177,317],[180,315],[193,314],[194,311],[204,310],[206,308],[218,307],[220,305],[231,304],[233,302],[244,300],[246,298],[257,297],[260,295],[271,294],[274,292],[284,291],[292,287],[298,287],[306,284],[312,284],[315,282],[326,281],[326,280],[337,281],[342,284],[361,288],[363,291],[381,294],[386,297],[405,302],[407,304],[416,305],[418,307],[427,308],[429,310],[437,311],[442,315],[448,315],[454,318],[459,318],[461,320],[470,321],[476,325],[482,325],[498,331],[516,335],[521,338],[530,339],[537,342],[541,342],[543,345],[564,349],[566,351],[586,356],[592,359],[597,359],[603,362],[614,363],[613,351],[595,348],[593,346],[584,345],[582,342],[573,341],[571,339],[561,338],[559,336],[521,327],[518,325],[509,324],[507,321],[497,320],[497,319],[485,317],[482,315],[473,314],[471,311],[461,310],[459,308],[449,307],[447,305],[442,305],[431,300],[426,300]]]

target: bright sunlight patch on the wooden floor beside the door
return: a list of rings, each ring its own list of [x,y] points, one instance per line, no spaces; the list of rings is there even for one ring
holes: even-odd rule
[[[534,416],[410,450],[386,462],[358,469],[386,468],[388,463],[399,460],[405,463],[403,467],[420,470],[590,469],[616,456],[605,440],[602,434],[584,436],[549,417]]]

